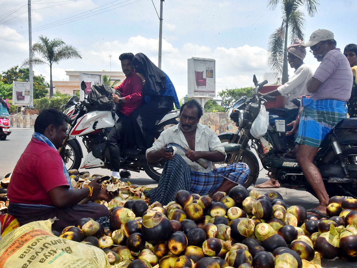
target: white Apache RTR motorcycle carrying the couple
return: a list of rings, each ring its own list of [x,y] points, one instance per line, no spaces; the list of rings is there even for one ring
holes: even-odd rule
[[[111,111],[87,112],[88,104],[86,99],[79,101],[77,96],[72,96],[64,106],[63,113],[69,116],[70,121],[67,130],[68,137],[59,152],[68,170],[109,168],[110,155],[106,146],[106,138],[114,127],[114,122],[119,118],[115,114],[115,104],[113,103]],[[176,119],[179,113],[180,110],[172,110],[161,119],[156,125],[155,138],[159,138],[165,126],[178,124]],[[88,153],[82,164],[83,152],[77,137],[82,138]],[[145,152],[136,147],[126,149],[122,158],[124,162],[121,163],[121,168],[134,172],[144,170],[150,178],[159,181],[164,162],[149,164]]]

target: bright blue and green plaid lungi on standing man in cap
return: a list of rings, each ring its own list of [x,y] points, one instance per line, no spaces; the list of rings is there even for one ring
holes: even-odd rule
[[[302,110],[296,143],[320,147],[338,122],[346,118],[346,101],[314,100]]]

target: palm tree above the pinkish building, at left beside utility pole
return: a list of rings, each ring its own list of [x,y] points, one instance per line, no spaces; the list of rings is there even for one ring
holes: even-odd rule
[[[35,65],[48,64],[50,66],[50,98],[53,97],[52,84],[52,64],[59,63],[61,60],[81,59],[79,51],[72,45],[66,45],[60,38],[50,40],[47,36],[39,36],[40,41],[32,45],[32,52],[39,54],[39,57],[32,58],[31,62]],[[28,66],[30,59],[26,59],[22,66]]]

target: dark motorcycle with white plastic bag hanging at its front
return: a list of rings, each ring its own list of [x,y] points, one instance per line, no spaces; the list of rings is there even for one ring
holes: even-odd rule
[[[218,135],[222,143],[226,146],[237,143],[240,147],[238,152],[234,152],[226,160],[226,164],[244,161],[250,155],[250,176],[255,179],[259,173],[257,157],[253,154],[255,150],[260,158],[263,168],[268,170],[269,177],[277,179],[285,188],[305,188],[305,190],[316,196],[310,184],[307,182],[296,159],[285,158],[284,154],[292,149],[294,144],[287,141],[284,128],[284,120],[281,115],[274,114],[272,110],[269,118],[265,118],[267,125],[265,133],[261,137],[252,135],[253,127],[261,125],[261,114],[265,111],[263,105],[266,101],[275,100],[272,96],[258,96],[258,90],[267,83],[267,80],[258,83],[253,76],[255,85],[252,98],[243,96],[237,100],[228,112],[231,120],[236,123],[238,130],[236,133],[226,132]],[[263,131],[264,132],[264,131]],[[320,170],[326,191],[331,197],[333,195],[357,197],[357,118],[343,119],[325,137],[320,149],[316,153],[314,164]]]

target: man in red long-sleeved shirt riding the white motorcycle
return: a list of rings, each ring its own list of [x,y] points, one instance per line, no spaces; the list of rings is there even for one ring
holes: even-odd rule
[[[125,137],[125,126],[130,124],[129,115],[141,105],[142,86],[145,82],[145,80],[143,81],[139,75],[135,73],[132,63],[133,57],[134,54],[132,53],[123,53],[119,56],[121,68],[126,78],[120,86],[115,88],[120,92],[120,98],[118,95],[112,94],[114,102],[121,104],[119,119],[107,137],[107,146],[110,154],[110,170],[113,171],[114,177],[119,177],[116,174],[119,172],[122,159],[120,157],[120,141]],[[129,173],[129,171],[126,173]]]

